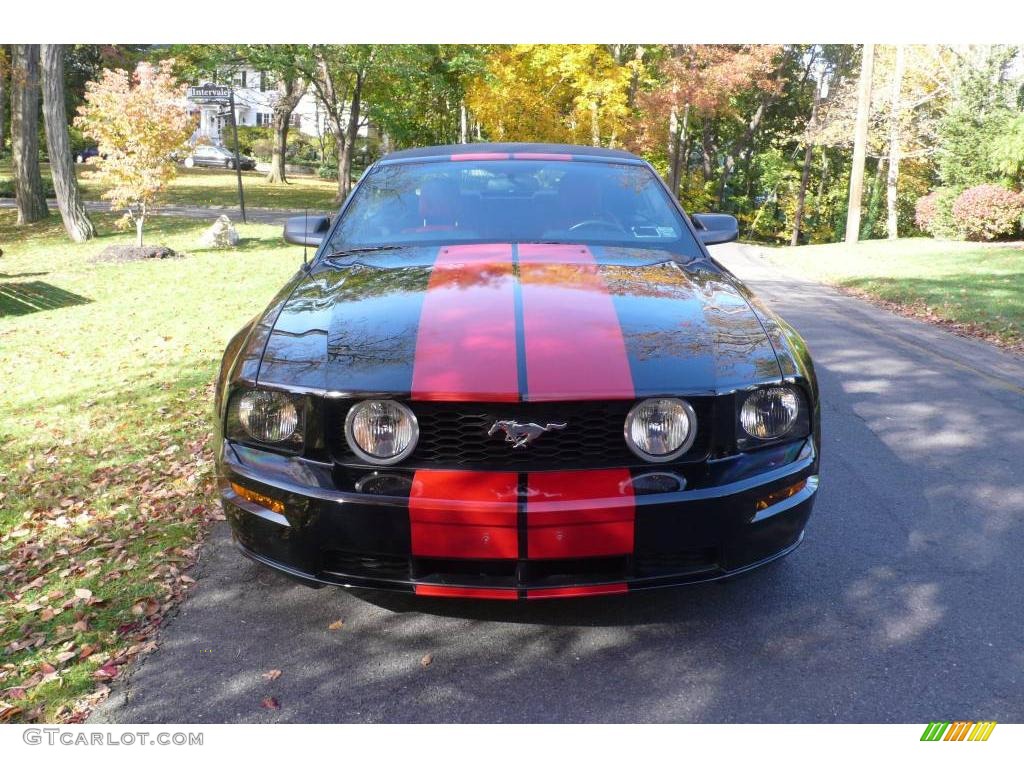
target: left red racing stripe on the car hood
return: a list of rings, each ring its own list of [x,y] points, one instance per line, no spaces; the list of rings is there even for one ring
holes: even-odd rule
[[[516,402],[512,246],[445,246],[420,312],[414,400]]]

